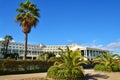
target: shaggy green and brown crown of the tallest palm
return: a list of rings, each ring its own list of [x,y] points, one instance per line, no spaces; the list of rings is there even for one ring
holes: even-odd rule
[[[20,8],[17,8],[16,11],[19,14],[16,16],[15,20],[20,22],[20,26],[28,26],[29,28],[36,27],[39,22],[38,17],[40,16],[36,4],[31,3],[30,0],[21,2]]]

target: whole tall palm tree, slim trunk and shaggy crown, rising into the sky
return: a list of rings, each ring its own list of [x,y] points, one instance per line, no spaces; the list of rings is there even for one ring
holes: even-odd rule
[[[36,5],[31,3],[30,0],[20,3],[20,8],[17,8],[16,11],[19,13],[16,16],[16,21],[20,23],[22,27],[22,32],[25,34],[25,53],[23,59],[26,59],[27,56],[27,40],[28,33],[30,33],[31,28],[37,25],[39,16],[39,9]]]

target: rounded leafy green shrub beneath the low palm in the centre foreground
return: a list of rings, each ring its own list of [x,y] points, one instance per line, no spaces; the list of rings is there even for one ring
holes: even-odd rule
[[[47,72],[48,78],[56,80],[81,80],[84,78],[84,74],[81,69],[66,70],[58,66],[52,66]]]

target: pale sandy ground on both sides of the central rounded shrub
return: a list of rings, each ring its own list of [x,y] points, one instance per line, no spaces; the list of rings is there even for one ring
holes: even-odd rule
[[[0,80],[45,80],[47,73],[17,74],[0,76]],[[95,72],[85,70],[84,80],[120,80],[120,72]]]

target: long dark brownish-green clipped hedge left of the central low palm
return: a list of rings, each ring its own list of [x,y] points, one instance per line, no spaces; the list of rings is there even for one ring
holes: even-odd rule
[[[0,60],[0,75],[12,73],[46,72],[53,62],[40,60]]]

